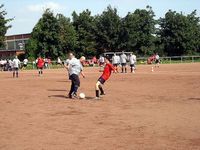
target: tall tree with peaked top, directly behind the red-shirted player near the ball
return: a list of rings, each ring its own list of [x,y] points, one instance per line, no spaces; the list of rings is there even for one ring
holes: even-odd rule
[[[116,8],[108,6],[99,16],[96,16],[96,43],[99,53],[119,50],[119,33],[121,18]]]

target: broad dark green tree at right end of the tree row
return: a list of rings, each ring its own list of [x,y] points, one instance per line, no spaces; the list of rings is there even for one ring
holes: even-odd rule
[[[196,11],[185,16],[169,10],[159,24],[158,34],[168,55],[187,55],[199,51],[200,27]]]

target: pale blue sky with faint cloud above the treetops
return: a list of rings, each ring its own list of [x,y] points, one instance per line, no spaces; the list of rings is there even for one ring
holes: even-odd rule
[[[9,23],[12,28],[6,35],[32,32],[46,8],[55,14],[62,13],[71,17],[73,11],[81,13],[85,9],[89,9],[92,15],[101,14],[111,5],[117,8],[120,17],[124,17],[128,12],[145,9],[149,5],[156,18],[164,17],[169,9],[185,15],[196,9],[200,17],[200,0],[0,0],[0,4],[4,4],[6,18],[14,18]]]

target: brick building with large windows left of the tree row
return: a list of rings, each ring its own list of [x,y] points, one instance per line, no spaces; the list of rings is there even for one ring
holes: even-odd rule
[[[31,34],[6,36],[5,47],[0,49],[0,59],[10,58],[25,53],[26,44]]]

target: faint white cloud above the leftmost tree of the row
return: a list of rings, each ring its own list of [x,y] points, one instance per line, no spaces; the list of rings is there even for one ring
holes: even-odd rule
[[[29,5],[27,9],[31,12],[43,12],[45,9],[50,8],[53,11],[63,10],[64,7],[55,2],[47,2],[42,4]]]

